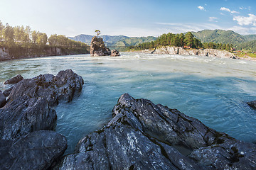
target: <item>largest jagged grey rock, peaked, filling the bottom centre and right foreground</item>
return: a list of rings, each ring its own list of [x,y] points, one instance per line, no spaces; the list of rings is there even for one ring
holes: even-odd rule
[[[123,94],[113,118],[55,169],[256,169],[256,145],[176,109]]]

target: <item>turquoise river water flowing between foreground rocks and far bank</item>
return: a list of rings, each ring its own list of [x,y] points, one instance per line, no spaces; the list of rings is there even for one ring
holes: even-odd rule
[[[112,118],[124,93],[177,108],[239,140],[256,141],[256,111],[246,104],[256,100],[256,62],[129,52],[120,57],[41,57],[0,62],[0,89],[16,74],[28,79],[64,69],[85,80],[79,97],[55,108],[56,131],[68,139],[66,153]]]

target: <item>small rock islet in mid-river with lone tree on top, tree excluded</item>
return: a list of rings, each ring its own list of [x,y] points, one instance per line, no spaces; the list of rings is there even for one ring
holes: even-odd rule
[[[102,38],[93,37],[90,44],[90,55],[91,56],[106,56],[111,55],[109,48],[105,47]]]

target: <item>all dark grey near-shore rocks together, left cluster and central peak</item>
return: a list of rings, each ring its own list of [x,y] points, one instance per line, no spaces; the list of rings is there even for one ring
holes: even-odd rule
[[[67,69],[5,83],[13,85],[0,92],[7,98],[0,108],[0,169],[256,169],[255,144],[129,94],[120,96],[109,123],[63,157],[68,144],[53,131],[53,106],[79,95],[82,77]]]

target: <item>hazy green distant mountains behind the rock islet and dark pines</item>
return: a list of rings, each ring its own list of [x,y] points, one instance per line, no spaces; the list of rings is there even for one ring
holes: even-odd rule
[[[238,50],[255,49],[256,35],[240,35],[233,30],[201,30],[198,32],[191,32],[201,42],[215,42],[233,44]],[[69,37],[71,40],[81,41],[90,45],[94,35],[77,35]],[[134,46],[143,42],[151,42],[156,40],[156,37],[127,37],[124,35],[100,35],[107,46]],[[247,46],[249,45],[249,46]],[[256,51],[255,51],[256,52]]]

